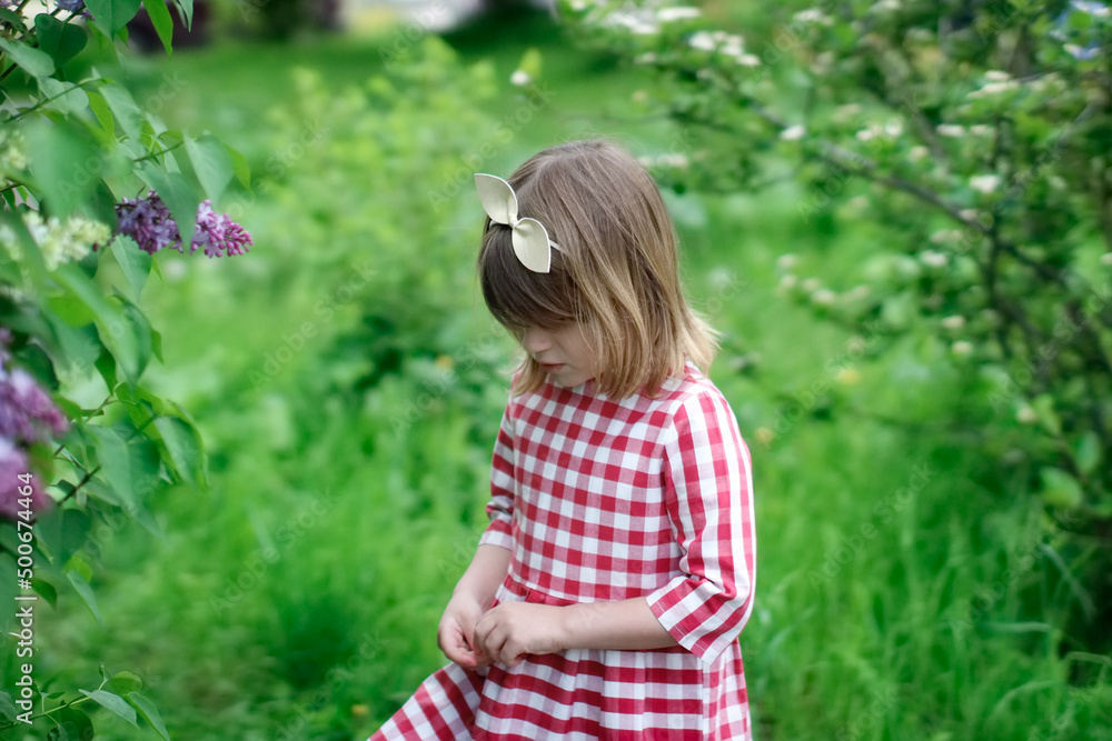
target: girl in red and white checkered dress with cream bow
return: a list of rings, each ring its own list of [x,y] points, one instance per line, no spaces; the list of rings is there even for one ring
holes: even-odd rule
[[[749,739],[749,452],[656,184],[582,141],[476,186],[483,297],[526,354],[451,663],[371,739]]]

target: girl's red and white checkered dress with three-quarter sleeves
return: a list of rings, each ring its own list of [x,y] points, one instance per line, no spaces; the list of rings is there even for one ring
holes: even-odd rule
[[[751,459],[707,378],[688,364],[657,399],[592,381],[514,397],[490,485],[480,542],[513,553],[496,603],[644,597],[679,645],[449,663],[373,741],[752,738],[737,643],[756,580]]]

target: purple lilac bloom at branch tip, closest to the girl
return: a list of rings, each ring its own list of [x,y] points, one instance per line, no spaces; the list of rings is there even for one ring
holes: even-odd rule
[[[116,216],[120,222],[120,233],[136,240],[140,249],[150,254],[165,247],[186,253],[178,223],[153,190],[147,193],[147,198],[127,198],[122,203],[117,203]],[[247,230],[232,221],[231,217],[214,212],[211,201],[206,200],[197,207],[197,224],[189,244],[190,254],[200,248],[210,258],[244,254],[250,251],[248,246],[254,243]]]

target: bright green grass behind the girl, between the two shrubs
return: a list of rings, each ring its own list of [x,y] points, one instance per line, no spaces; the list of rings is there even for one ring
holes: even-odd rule
[[[619,134],[643,151],[669,141],[661,122],[618,120],[599,102],[624,100],[643,78],[546,33],[506,33],[489,48],[457,40],[465,62],[489,54],[499,81],[526,46],[545,54],[553,103],[499,149],[494,171],[587,133]],[[157,89],[162,71],[175,70],[185,86],[167,102],[167,120],[215,130],[265,172],[280,130],[267,111],[298,94],[290,67],[318,70],[340,96],[378,60],[374,44],[330,39],[296,53],[226,47],[145,61],[132,82]],[[505,87],[495,101],[485,111],[494,121],[520,106]],[[438,103],[430,96],[427,104]],[[373,174],[334,187],[383,198]],[[320,282],[336,276],[326,250],[356,249],[330,241],[332,217],[306,206],[319,201],[288,197],[276,189],[247,211],[257,236],[250,256],[160,256],[163,269],[185,270],[145,296],[167,356],[151,382],[197,418],[214,485],[152,502],[165,539],[132,527],[102,542],[95,587],[103,628],[63,595],[40,629],[49,637],[43,675],[89,687],[98,662],[135,671],[178,739],[366,738],[443,663],[436,624],[483,524],[504,379],[449,385],[399,428],[437,377],[415,356],[404,372],[353,388],[363,348],[350,338],[367,337],[358,334],[361,319],[384,297],[339,307],[261,390],[245,381],[335,290]],[[1071,683],[1071,672],[1094,664],[1059,655],[1055,610],[1069,597],[1053,591],[1045,560],[985,603],[985,617],[954,622],[1016,568],[1040,514],[1016,484],[994,479],[997,462],[979,458],[946,423],[969,403],[960,374],[904,346],[854,363],[856,382],[827,369],[845,354],[848,333],[780,297],[775,260],[800,253],[835,281],[841,266],[868,257],[868,231],[847,222],[832,239],[804,228],[797,198],[784,187],[669,200],[689,291],[725,332],[712,375],[754,453],[759,574],[742,643],[756,738],[1112,738],[1108,670]],[[288,249],[291,231],[319,242]],[[403,232],[378,249],[413,248]],[[460,284],[469,266],[468,254],[455,264]],[[729,290],[724,274],[733,277]],[[457,328],[436,336],[447,357],[489,328],[474,294],[453,298],[459,316],[434,322]],[[509,351],[495,346],[492,367],[507,363]],[[736,371],[735,361],[754,352],[755,368]],[[805,398],[816,383],[833,401],[805,404],[796,418],[793,394]],[[764,444],[759,428],[777,434]],[[148,738],[103,712],[96,722],[106,738]]]

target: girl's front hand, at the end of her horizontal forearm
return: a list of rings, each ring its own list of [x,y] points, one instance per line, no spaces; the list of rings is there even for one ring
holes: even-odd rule
[[[475,627],[474,649],[483,664],[494,661],[516,667],[527,653],[564,650],[563,608],[528,602],[504,602],[488,610]],[[480,664],[480,665],[483,665]]]

